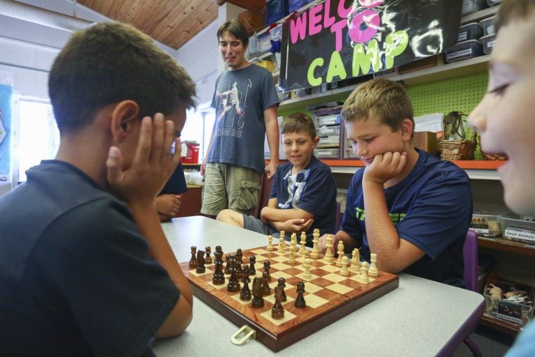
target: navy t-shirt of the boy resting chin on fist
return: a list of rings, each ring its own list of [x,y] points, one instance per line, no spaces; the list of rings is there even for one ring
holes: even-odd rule
[[[385,189],[389,215],[399,237],[426,253],[404,272],[465,287],[463,245],[472,219],[470,180],[453,163],[416,150],[419,158],[410,174]],[[361,169],[351,180],[341,230],[362,241],[360,257],[369,261],[363,174]]]

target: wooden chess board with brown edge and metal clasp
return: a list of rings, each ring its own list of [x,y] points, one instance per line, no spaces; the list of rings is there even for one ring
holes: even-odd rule
[[[262,342],[272,351],[280,351],[304,337],[319,331],[321,328],[338,321],[359,307],[389,293],[398,287],[397,275],[379,271],[378,276],[370,277],[370,282],[364,284],[357,281],[357,274],[343,276],[339,272],[341,268],[334,263],[327,264],[320,255],[319,259],[311,259],[311,278],[303,277],[304,257],[296,257],[295,264],[288,264],[289,250],[286,245],[284,254],[275,250],[267,250],[266,247],[243,250],[243,264],[249,264],[249,257],[256,257],[256,277],[261,278],[263,263],[270,261],[270,275],[272,281],[270,287],[272,293],[264,296],[264,307],[251,307],[251,301],[241,301],[240,291],[230,292],[226,289],[226,283],[215,285],[212,283],[214,264],[207,264],[205,273],[196,273],[196,269],[189,268],[189,262],[181,263],[186,278],[192,283],[193,293],[197,298],[207,303],[210,307],[224,317],[241,327],[248,325],[256,331],[256,340]],[[224,247],[223,251],[224,251]],[[224,252],[225,255],[233,252]],[[213,257],[212,257],[213,259]],[[229,275],[226,275],[228,282]],[[251,276],[251,288],[253,276]],[[284,318],[273,319],[271,309],[274,305],[274,287],[277,279],[286,280],[287,301],[283,303]],[[297,297],[296,284],[304,282],[304,299],[307,307],[297,309],[294,305]],[[240,281],[240,287],[243,283]],[[230,338],[230,336],[229,336]]]

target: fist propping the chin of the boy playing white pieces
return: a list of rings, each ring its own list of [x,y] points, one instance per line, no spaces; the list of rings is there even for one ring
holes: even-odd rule
[[[407,153],[397,151],[375,155],[371,165],[364,169],[363,180],[383,184],[401,173],[407,163]]]

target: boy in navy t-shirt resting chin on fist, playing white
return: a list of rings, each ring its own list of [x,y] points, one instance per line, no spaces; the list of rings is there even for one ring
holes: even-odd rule
[[[472,218],[467,174],[412,146],[412,105],[387,79],[361,84],[341,112],[352,149],[366,166],[353,176],[334,247],[377,254],[382,271],[465,286],[463,245]],[[325,251],[325,237],[319,248]]]

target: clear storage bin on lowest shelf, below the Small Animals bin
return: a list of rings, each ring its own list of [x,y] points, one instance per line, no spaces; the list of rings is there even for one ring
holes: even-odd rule
[[[489,275],[484,291],[486,311],[490,317],[524,326],[533,317],[534,289],[525,284],[501,280]]]

